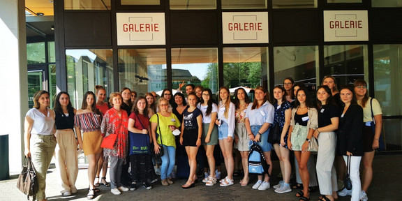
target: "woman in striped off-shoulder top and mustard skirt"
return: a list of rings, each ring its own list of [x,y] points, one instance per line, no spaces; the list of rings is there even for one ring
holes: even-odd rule
[[[95,198],[95,193],[99,192],[95,188],[95,174],[98,166],[99,157],[101,157],[101,122],[102,113],[96,109],[96,97],[94,92],[87,91],[82,98],[82,106],[77,110],[74,117],[75,133],[77,134],[78,142],[80,142],[81,130],[83,132],[82,149],[85,156],[89,161],[88,166],[88,179],[89,179],[89,193],[88,200]]]

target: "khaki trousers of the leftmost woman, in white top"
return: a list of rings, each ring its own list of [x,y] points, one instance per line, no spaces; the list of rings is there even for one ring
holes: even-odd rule
[[[31,159],[34,163],[36,171],[36,179],[38,179],[38,193],[36,200],[44,200],[46,198],[46,172],[49,169],[50,161],[56,147],[56,137],[54,135],[31,135],[29,140],[31,145]]]

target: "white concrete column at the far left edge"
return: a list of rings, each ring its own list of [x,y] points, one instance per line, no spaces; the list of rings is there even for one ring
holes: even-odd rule
[[[0,135],[9,135],[10,174],[20,172],[28,111],[25,1],[0,1]]]

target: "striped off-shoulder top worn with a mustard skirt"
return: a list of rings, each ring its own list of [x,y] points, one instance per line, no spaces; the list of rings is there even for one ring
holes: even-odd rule
[[[82,132],[93,132],[101,130],[102,117],[95,112],[87,112],[76,114],[74,117],[74,125],[80,127]]]

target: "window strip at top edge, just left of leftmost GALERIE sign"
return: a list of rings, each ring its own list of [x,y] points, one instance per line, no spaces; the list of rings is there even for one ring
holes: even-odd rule
[[[64,0],[64,9],[110,10],[110,0]]]

